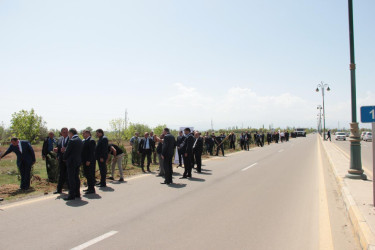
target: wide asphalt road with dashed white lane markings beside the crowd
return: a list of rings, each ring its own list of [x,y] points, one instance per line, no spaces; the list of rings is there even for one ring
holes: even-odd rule
[[[359,249],[316,135],[204,165],[0,206],[0,249]]]

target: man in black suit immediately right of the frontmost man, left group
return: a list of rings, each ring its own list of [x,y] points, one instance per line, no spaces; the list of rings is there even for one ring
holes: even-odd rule
[[[96,142],[91,137],[90,130],[84,130],[83,133],[83,146],[82,146],[82,164],[83,164],[83,173],[87,179],[87,190],[84,190],[86,194],[95,193],[95,147]]]

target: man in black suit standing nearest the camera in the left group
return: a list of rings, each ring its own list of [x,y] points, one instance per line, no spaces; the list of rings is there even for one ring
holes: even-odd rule
[[[81,181],[79,179],[79,167],[82,161],[82,146],[83,142],[78,136],[78,132],[75,128],[69,129],[69,143],[64,153],[64,161],[68,170],[68,182],[69,182],[69,196],[64,200],[74,200],[80,198],[81,194],[79,191]]]

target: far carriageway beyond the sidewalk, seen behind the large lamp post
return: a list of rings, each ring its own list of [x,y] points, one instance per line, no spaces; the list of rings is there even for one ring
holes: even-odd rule
[[[346,141],[336,141],[335,136],[332,137],[332,142],[335,143],[342,151],[345,152],[347,157],[350,157],[350,141],[347,137]],[[362,166],[365,168],[365,173],[370,172],[372,175],[372,142],[361,142],[361,156],[362,156]]]

